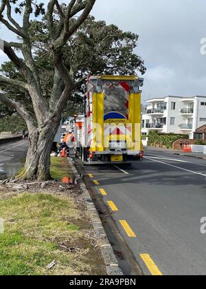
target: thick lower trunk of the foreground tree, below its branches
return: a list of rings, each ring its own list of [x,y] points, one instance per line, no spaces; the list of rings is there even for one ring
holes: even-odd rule
[[[25,169],[18,178],[23,180],[50,180],[50,153],[61,118],[51,118],[45,127],[32,129]]]

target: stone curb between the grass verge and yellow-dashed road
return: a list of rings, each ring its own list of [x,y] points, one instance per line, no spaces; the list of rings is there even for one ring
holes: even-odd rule
[[[68,162],[71,166],[71,169],[73,171],[73,174],[76,177],[76,181],[78,184],[80,184],[80,189],[83,192],[84,200],[87,206],[88,211],[91,215],[91,222],[93,224],[93,228],[95,231],[95,237],[98,238],[98,241],[100,243],[100,248],[102,250],[102,256],[104,258],[104,262],[106,264],[106,272],[108,275],[113,276],[122,276],[123,272],[119,268],[119,264],[117,261],[117,258],[115,257],[115,254],[113,252],[113,248],[108,241],[108,237],[106,236],[106,232],[104,231],[104,227],[102,225],[102,221],[100,220],[100,216],[98,214],[98,211],[95,208],[95,205],[93,204],[93,200],[91,199],[91,195],[89,194],[89,191],[87,190],[86,185],[84,184],[80,174],[78,173],[76,167],[74,166],[71,158],[68,158]]]

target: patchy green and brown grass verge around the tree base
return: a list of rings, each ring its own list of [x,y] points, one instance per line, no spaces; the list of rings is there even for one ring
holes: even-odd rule
[[[62,163],[64,162],[64,163]],[[69,173],[67,160],[52,158],[52,177]],[[100,248],[88,212],[73,193],[19,192],[0,194],[0,275],[104,275]],[[2,195],[2,197],[1,197]],[[56,262],[51,269],[47,265]]]

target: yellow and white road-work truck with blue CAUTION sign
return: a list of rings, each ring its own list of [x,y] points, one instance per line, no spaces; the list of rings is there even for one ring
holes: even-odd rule
[[[132,164],[143,158],[137,76],[89,76],[84,115],[75,116],[75,153],[83,164]]]

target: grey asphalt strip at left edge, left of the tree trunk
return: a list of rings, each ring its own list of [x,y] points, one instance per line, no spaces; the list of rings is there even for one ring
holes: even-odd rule
[[[0,145],[0,180],[10,178],[23,167],[27,147],[27,140]]]

